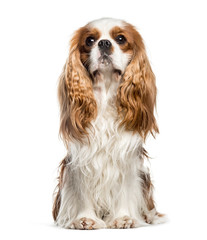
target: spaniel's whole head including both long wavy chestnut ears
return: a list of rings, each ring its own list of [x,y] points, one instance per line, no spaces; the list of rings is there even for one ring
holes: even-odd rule
[[[97,114],[94,78],[107,71],[120,79],[117,91],[120,124],[143,138],[148,132],[158,132],[153,114],[155,77],[140,34],[124,21],[100,19],[75,32],[60,78],[60,132],[66,141],[71,137],[80,140],[87,134]]]

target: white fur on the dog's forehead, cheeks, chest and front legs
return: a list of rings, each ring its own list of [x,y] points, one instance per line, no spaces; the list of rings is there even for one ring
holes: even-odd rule
[[[102,37],[108,39],[109,30],[122,22],[102,19],[90,24],[101,29]],[[117,49],[118,46],[114,61],[124,70],[128,56]],[[119,58],[125,60],[119,62]],[[97,59],[98,48],[94,47],[91,64],[96,65]],[[155,216],[155,212],[147,210],[139,178],[140,170],[147,171],[140,156],[142,138],[119,126],[115,102],[119,80],[111,65],[102,66],[94,85],[98,116],[88,129],[89,141],[86,138],[84,143],[76,140],[70,143],[71,159],[64,173],[57,217],[57,224],[62,227],[74,228],[76,224],[84,227],[84,218],[88,228],[90,219],[96,222],[96,228],[112,226],[115,219],[119,219],[120,226],[124,221],[128,227],[132,222],[140,226],[146,224],[143,212],[151,214],[152,219]]]

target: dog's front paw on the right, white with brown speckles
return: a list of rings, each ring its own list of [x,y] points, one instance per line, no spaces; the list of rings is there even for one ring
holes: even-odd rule
[[[128,216],[116,218],[108,224],[109,228],[136,228],[139,227],[138,221],[136,219],[130,218]]]

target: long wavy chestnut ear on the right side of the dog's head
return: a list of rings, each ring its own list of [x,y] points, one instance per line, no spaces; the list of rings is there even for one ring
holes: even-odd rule
[[[159,132],[154,117],[157,90],[143,40],[132,26],[130,34],[133,36],[133,57],[118,89],[117,109],[122,117],[121,125],[145,139],[149,132],[153,136]]]

